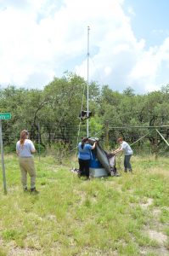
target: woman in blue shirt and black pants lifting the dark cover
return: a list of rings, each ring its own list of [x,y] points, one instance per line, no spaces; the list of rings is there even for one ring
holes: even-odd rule
[[[79,162],[79,177],[86,176],[89,179],[89,164],[91,159],[91,150],[96,146],[89,144],[88,137],[83,137],[82,142],[78,144],[78,162]]]

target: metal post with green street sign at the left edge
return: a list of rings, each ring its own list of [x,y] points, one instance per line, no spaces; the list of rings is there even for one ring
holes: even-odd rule
[[[1,159],[3,167],[3,189],[4,194],[7,194],[7,185],[6,185],[6,175],[5,175],[5,165],[3,158],[3,131],[2,131],[2,122],[1,120],[11,119],[11,113],[0,113],[0,144],[1,144]]]

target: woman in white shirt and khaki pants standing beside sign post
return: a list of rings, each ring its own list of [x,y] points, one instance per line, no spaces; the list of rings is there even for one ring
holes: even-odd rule
[[[27,173],[31,177],[31,192],[38,193],[36,182],[36,171],[32,154],[36,152],[34,144],[28,139],[29,133],[26,130],[20,132],[20,141],[16,143],[16,154],[19,156],[21,183],[24,191],[27,191]]]

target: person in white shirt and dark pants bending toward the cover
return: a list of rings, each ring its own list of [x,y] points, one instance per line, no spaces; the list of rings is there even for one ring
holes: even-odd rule
[[[130,159],[131,159],[131,156],[133,154],[133,151],[132,151],[132,148],[130,147],[130,145],[123,141],[123,138],[122,137],[119,137],[117,139],[117,143],[120,144],[120,147],[117,148],[115,151],[111,152],[112,154],[117,154],[121,151],[124,152],[125,154],[125,157],[124,157],[124,172],[127,172],[127,170],[129,172],[132,172],[132,166],[131,166],[131,163],[130,163]]]

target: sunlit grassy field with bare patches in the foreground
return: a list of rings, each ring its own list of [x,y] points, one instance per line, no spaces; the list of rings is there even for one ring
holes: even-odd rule
[[[169,160],[133,156],[133,173],[79,179],[74,162],[35,157],[39,195],[22,191],[16,156],[0,176],[0,255],[169,255]],[[77,165],[76,165],[77,166]],[[30,179],[29,179],[30,180]]]

